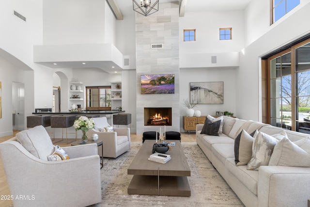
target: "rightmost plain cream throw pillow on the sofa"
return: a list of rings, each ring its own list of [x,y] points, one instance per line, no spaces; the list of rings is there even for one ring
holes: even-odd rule
[[[296,142],[283,138],[276,144],[268,165],[310,167],[310,137]]]

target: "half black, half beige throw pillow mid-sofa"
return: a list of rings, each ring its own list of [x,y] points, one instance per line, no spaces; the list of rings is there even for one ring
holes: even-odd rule
[[[256,131],[257,130],[254,132]],[[237,166],[247,165],[248,161],[251,159],[254,132],[251,136],[243,129],[234,140],[234,161]]]

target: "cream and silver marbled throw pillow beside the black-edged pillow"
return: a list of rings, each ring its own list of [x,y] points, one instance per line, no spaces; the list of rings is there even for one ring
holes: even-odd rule
[[[273,135],[279,137],[278,134]],[[273,148],[279,142],[275,137],[259,132],[252,145],[252,157],[247,170],[258,170],[260,166],[268,165]]]

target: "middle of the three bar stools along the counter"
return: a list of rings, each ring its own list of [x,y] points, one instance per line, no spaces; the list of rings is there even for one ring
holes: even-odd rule
[[[62,141],[63,141],[63,129],[66,129],[66,142],[68,143],[67,129],[72,127],[76,119],[75,115],[54,115],[50,117],[50,127],[52,128],[53,140],[55,140],[55,128],[62,128]],[[73,133],[69,133],[73,134]],[[61,142],[61,141],[59,141]]]

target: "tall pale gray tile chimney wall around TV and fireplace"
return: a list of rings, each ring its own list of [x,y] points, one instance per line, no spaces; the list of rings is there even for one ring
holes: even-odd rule
[[[151,44],[163,48],[151,49]],[[174,74],[174,94],[141,95],[140,75],[156,74]],[[159,2],[159,11],[150,16],[136,13],[137,134],[159,131],[144,126],[145,107],[171,107],[172,126],[166,130],[180,131],[179,80],[179,2]]]

